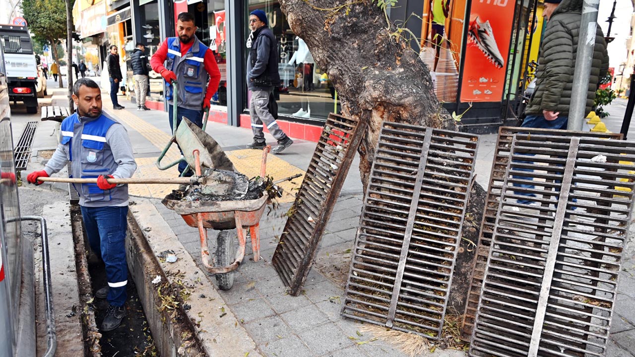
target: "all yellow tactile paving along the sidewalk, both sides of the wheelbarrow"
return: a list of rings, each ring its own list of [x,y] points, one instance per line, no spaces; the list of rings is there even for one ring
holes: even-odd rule
[[[109,102],[108,97],[104,97],[104,102]],[[108,103],[107,103],[108,104]],[[128,111],[109,111],[109,114],[114,116],[123,125],[130,128],[135,128],[143,137],[145,137],[157,150],[162,151],[165,145],[171,139],[171,135],[159,130],[156,126],[138,118],[134,114]],[[260,163],[262,161],[262,151],[243,149],[236,151],[225,152],[229,159],[231,159],[236,170],[243,173],[247,177],[256,177],[260,175]],[[180,158],[180,152],[178,152],[177,145],[173,144],[170,150],[166,153],[161,163],[167,165]],[[137,172],[133,177],[135,178],[157,178],[157,177],[177,177],[178,170],[176,166],[168,170],[159,170],[156,167],[157,158],[137,158]],[[293,202],[298,187],[304,180],[304,170],[300,170],[296,166],[287,163],[283,159],[279,159],[276,156],[269,154],[267,156],[267,175],[273,177],[274,180],[284,179],[285,177],[291,177],[300,173],[302,177],[286,181],[279,184],[284,190],[282,198],[278,201],[281,203]],[[130,185],[128,192],[132,196],[152,197],[152,198],[164,198],[173,189],[177,189],[177,185],[163,185],[163,184],[138,184]]]

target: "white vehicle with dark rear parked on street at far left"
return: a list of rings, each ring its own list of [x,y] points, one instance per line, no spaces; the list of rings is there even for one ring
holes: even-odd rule
[[[37,63],[29,30],[24,26],[0,25],[9,99],[24,102],[27,112],[37,112]],[[40,91],[41,88],[40,88]]]

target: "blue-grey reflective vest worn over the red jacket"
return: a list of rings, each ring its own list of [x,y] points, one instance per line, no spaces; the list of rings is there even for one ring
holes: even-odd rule
[[[208,46],[205,46],[194,36],[192,47],[181,56],[181,46],[178,37],[168,37],[168,58],[166,69],[177,75],[178,98],[177,107],[200,111],[203,109],[203,98],[209,81],[209,74],[205,71],[203,60]],[[174,105],[171,84],[166,84],[166,99]]]

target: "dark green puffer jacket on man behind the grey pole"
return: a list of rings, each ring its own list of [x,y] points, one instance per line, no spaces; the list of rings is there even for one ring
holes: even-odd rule
[[[582,3],[583,0],[563,0],[551,15],[540,44],[536,90],[525,114],[542,115],[542,111],[554,111],[560,112],[561,116],[568,116]],[[591,111],[599,79],[605,76],[607,71],[606,41],[598,25],[585,115]]]

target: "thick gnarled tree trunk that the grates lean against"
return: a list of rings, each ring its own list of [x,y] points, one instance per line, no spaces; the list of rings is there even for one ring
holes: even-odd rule
[[[281,0],[291,30],[328,74],[342,114],[369,122],[359,154],[365,189],[382,121],[455,130],[406,32],[371,0]],[[347,4],[347,5],[344,5]],[[403,36],[399,36],[401,33]]]

